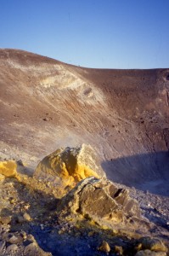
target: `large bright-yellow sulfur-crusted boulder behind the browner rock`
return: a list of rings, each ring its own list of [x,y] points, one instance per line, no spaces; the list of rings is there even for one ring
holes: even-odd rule
[[[34,177],[53,181],[65,188],[74,187],[86,177],[105,176],[94,149],[82,144],[78,148],[60,148],[46,156],[37,166]]]

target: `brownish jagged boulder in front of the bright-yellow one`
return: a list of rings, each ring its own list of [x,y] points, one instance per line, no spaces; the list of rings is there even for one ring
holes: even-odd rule
[[[140,218],[138,202],[127,189],[118,189],[109,180],[88,177],[59,203],[59,218],[87,218],[100,226],[127,224]]]

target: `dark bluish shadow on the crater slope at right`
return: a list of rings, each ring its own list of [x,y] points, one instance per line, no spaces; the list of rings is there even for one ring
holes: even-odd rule
[[[169,152],[136,154],[102,162],[107,177],[115,183],[169,195]]]

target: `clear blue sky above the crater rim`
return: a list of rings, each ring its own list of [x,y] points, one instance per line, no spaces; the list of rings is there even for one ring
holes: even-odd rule
[[[82,67],[169,67],[169,0],[0,0],[0,48]]]

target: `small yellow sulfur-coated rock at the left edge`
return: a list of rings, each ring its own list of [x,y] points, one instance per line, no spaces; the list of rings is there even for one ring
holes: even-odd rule
[[[14,160],[1,161],[0,174],[3,174],[5,177],[16,177],[17,163]]]

